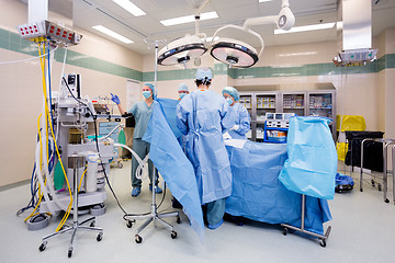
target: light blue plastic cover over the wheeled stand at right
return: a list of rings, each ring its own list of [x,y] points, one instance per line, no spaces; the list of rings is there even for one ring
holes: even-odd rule
[[[324,199],[335,195],[337,152],[324,117],[292,117],[279,180],[290,191]]]

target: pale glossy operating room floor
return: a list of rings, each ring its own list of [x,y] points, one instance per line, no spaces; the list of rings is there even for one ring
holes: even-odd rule
[[[339,170],[342,167],[339,165]],[[148,211],[151,194],[148,181],[144,182],[139,197],[131,197],[131,162],[123,169],[112,169],[110,181],[121,204],[128,213]],[[356,179],[356,173],[353,178]],[[366,176],[368,179],[368,176]],[[370,180],[369,180],[370,181]],[[369,182],[368,181],[368,182]],[[76,248],[71,259],[67,258],[70,235],[48,241],[46,250],[38,251],[41,239],[52,233],[59,221],[53,218],[49,226],[29,231],[23,222],[27,216],[15,213],[30,198],[27,184],[0,191],[0,263],[3,262],[394,262],[395,205],[392,202],[392,178],[388,180],[390,204],[383,202],[383,193],[364,184],[364,192],[356,188],[336,194],[329,202],[334,219],[327,247],[321,248],[317,239],[296,233],[282,235],[279,226],[246,221],[242,227],[225,221],[217,230],[205,229],[204,242],[190,227],[182,214],[182,222],[167,219],[178,232],[177,239],[161,227],[150,225],[142,232],[143,243],[134,241],[134,230],[125,226],[122,211],[108,191],[106,213],[97,218],[97,226],[104,229],[103,240],[98,242],[94,232],[77,232]],[[158,195],[158,201],[161,198]],[[168,193],[160,209],[172,210]],[[81,219],[88,216],[81,216]],[[71,219],[71,218],[70,218]],[[69,220],[70,220],[69,219]]]

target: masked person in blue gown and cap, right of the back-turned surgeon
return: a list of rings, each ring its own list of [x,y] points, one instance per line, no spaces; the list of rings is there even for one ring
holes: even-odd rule
[[[233,139],[247,139],[246,134],[250,130],[251,118],[247,108],[238,102],[240,100],[238,91],[233,87],[225,87],[222,93],[229,104],[229,114],[234,124],[227,130],[228,135]]]

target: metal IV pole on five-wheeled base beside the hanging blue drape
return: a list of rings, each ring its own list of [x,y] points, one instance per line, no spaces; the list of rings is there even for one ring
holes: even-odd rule
[[[157,81],[158,81],[158,46],[159,43],[161,43],[162,41],[155,41],[153,43],[153,45],[155,45],[155,88],[157,88]],[[155,90],[155,92],[157,93],[157,89]],[[155,147],[155,146],[154,146]],[[135,231],[135,241],[136,243],[142,243],[143,242],[143,238],[142,236],[139,236],[139,233],[151,222],[159,222],[160,225],[162,225],[163,227],[170,229],[170,237],[172,239],[177,238],[177,232],[173,230],[173,227],[168,224],[167,221],[165,221],[162,218],[166,217],[177,217],[177,222],[180,224],[180,215],[178,211],[170,211],[170,213],[161,213],[159,214],[157,210],[157,205],[156,205],[156,188],[157,188],[157,182],[158,180],[158,173],[157,173],[157,169],[154,165],[154,174],[153,174],[153,202],[151,202],[151,206],[150,206],[150,213],[148,215],[138,215],[138,216],[128,216],[128,218],[134,219],[134,220],[144,220],[146,219],[146,221],[143,222],[143,225],[136,229]],[[128,226],[132,227],[132,220],[128,220]]]

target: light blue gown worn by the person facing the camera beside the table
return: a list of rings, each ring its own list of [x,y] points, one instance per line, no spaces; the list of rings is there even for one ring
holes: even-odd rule
[[[235,103],[229,106],[229,114],[233,119],[233,125],[238,125],[237,129],[228,130],[233,139],[247,139],[246,134],[250,130],[250,116],[247,108],[240,103]]]

